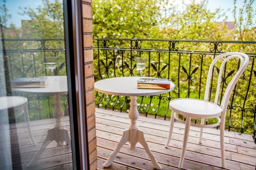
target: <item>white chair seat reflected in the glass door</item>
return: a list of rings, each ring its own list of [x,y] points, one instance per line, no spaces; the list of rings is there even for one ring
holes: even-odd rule
[[[27,98],[22,96],[3,96],[0,97],[0,110],[14,108],[27,103]]]

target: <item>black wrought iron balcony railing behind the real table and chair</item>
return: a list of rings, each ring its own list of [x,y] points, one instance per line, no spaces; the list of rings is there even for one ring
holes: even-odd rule
[[[163,95],[142,96],[138,99],[140,112],[170,116],[169,101],[176,98],[203,99],[208,67],[213,58],[225,52],[243,52],[250,63],[230,98],[226,118],[227,129],[255,136],[255,41],[208,41],[162,39],[94,39],[95,80],[138,75],[135,57],[147,57],[144,76],[170,79],[175,90]],[[221,103],[227,82],[239,67],[239,61],[225,65],[222,76]],[[218,74],[218,66],[214,68]],[[215,77],[212,75],[209,100],[214,98]],[[97,107],[126,111],[129,98],[96,93]],[[208,120],[211,122],[211,120]],[[197,119],[195,119],[197,122]],[[209,123],[208,122],[208,123]]]

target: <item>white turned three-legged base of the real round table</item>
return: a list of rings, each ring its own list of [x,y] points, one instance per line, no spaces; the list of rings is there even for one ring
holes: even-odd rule
[[[148,147],[148,144],[144,138],[143,131],[139,130],[138,125],[136,123],[136,120],[139,118],[139,111],[137,109],[137,97],[131,96],[131,103],[130,103],[130,111],[129,111],[129,118],[131,119],[131,125],[129,129],[126,129],[123,131],[122,138],[117,144],[116,149],[111,153],[109,159],[103,164],[104,167],[108,167],[112,164],[114,159],[116,158],[116,155],[122,148],[122,146],[129,141],[130,147],[132,149],[136,149],[137,142],[139,142],[143,148],[145,149],[147,155],[150,157],[151,162],[153,166],[156,169],[162,169],[162,167],[158,164],[155,156],[150,151],[150,148]]]

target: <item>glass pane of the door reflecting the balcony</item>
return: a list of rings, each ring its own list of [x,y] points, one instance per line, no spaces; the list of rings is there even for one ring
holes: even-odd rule
[[[0,169],[76,167],[63,9],[1,0]]]

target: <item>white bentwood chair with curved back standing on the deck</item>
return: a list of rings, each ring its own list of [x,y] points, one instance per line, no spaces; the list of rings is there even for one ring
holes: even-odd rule
[[[233,76],[233,78],[229,82],[229,84],[224,92],[221,105],[219,106],[217,103],[218,103],[218,99],[219,99],[219,92],[220,92],[220,86],[221,86],[221,81],[222,81],[222,72],[223,72],[223,68],[224,68],[226,62],[228,60],[230,60],[231,58],[239,58],[241,61],[241,66],[238,69],[237,73]],[[209,95],[209,87],[210,87],[212,70],[213,70],[215,64],[217,63],[217,61],[220,59],[223,59],[223,61],[222,61],[220,71],[219,71],[215,102],[211,103],[211,102],[208,102],[207,100],[208,100],[208,95]],[[185,124],[183,148],[182,148],[179,168],[182,168],[182,164],[184,161],[184,156],[185,156],[186,146],[187,146],[187,139],[188,139],[188,134],[189,134],[189,127],[194,126],[194,127],[201,128],[200,129],[200,137],[199,137],[199,143],[201,143],[202,135],[203,135],[203,128],[213,128],[213,127],[217,127],[219,125],[221,127],[221,130],[220,130],[221,161],[222,161],[222,167],[225,168],[224,132],[225,132],[225,118],[226,118],[227,105],[228,105],[228,101],[229,101],[231,92],[232,92],[234,86],[236,85],[238,79],[241,77],[244,70],[246,69],[248,63],[249,63],[249,57],[243,53],[233,52],[233,53],[225,53],[225,54],[219,55],[210,64],[206,87],[205,87],[204,100],[177,99],[177,100],[173,100],[169,103],[169,108],[172,110],[172,116],[170,118],[169,136],[168,136],[165,148],[168,147],[170,138],[172,138],[174,120],[176,119],[177,122]],[[185,121],[181,120],[177,116],[178,114],[186,116],[186,120]],[[221,118],[219,116],[221,116]],[[191,117],[201,118],[201,124],[191,123]],[[206,118],[216,118],[218,120],[218,122],[215,124],[211,124],[211,125],[204,125],[204,120]]]

